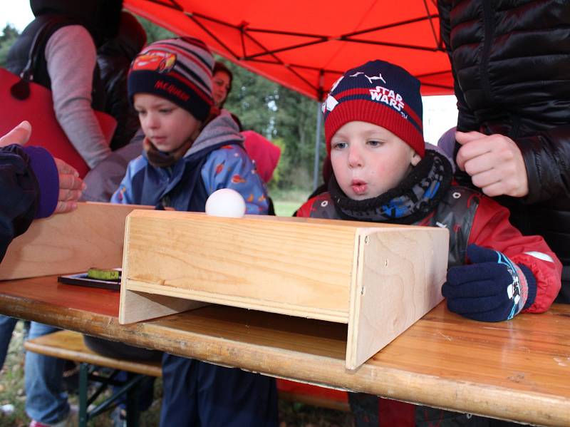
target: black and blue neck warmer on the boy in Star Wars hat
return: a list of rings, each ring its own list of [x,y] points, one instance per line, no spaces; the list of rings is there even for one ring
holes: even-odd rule
[[[353,200],[346,197],[334,174],[328,192],[345,220],[413,224],[435,209],[450,187],[452,168],[445,156],[426,150],[424,158],[398,187],[378,197]]]

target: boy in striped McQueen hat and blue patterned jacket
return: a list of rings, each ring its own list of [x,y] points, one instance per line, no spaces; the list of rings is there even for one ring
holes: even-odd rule
[[[266,214],[264,185],[229,113],[212,108],[214,59],[196,38],[144,48],[128,93],[145,133],[112,202],[204,212],[207,197],[232,188],[246,212]],[[168,238],[165,236],[165,238]],[[274,379],[165,354],[161,426],[276,426]]]

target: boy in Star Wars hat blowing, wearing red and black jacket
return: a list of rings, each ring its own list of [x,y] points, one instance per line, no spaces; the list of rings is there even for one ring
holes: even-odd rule
[[[497,202],[455,185],[450,161],[424,143],[416,78],[391,63],[368,62],[336,81],[323,113],[333,175],[328,191],[306,202],[298,216],[446,227],[450,268],[442,294],[450,311],[503,321],[549,309],[560,289],[559,259],[542,237],[514,228]],[[378,426],[378,398],[352,394],[350,400],[358,427]],[[382,402],[386,426],[487,421]]]

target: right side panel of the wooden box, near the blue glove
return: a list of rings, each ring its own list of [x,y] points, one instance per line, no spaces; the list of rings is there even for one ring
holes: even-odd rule
[[[346,367],[355,369],[442,300],[447,230],[401,227],[359,232]]]

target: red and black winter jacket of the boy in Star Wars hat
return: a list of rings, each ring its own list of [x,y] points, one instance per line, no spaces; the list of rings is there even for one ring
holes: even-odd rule
[[[329,192],[311,198],[296,215],[341,219]],[[447,227],[450,230],[450,267],[465,263],[467,245],[472,243],[499,250],[513,262],[529,267],[537,280],[537,294],[533,304],[524,310],[526,312],[546,311],[559,292],[561,264],[546,242],[540,236],[523,236],[509,223],[509,211],[480,192],[450,186],[435,210],[415,225]],[[351,393],[349,401],[358,426],[486,425],[483,418],[470,414],[415,406],[365,393]]]

